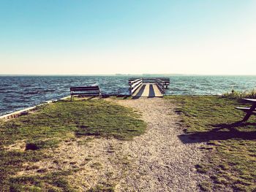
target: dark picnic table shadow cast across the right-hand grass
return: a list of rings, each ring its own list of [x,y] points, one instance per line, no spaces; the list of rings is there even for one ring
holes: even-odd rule
[[[211,131],[194,133],[194,134],[181,134],[178,136],[181,142],[188,143],[198,143],[198,142],[208,142],[210,140],[227,140],[227,139],[256,139],[256,131],[238,131],[236,128],[246,128],[246,126],[255,126],[256,123],[242,123],[238,121],[231,124],[217,124],[209,125],[214,128]]]

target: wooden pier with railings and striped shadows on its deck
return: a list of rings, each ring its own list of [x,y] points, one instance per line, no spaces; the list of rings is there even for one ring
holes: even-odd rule
[[[130,78],[129,90],[130,95],[135,98],[140,97],[162,97],[165,89],[170,85],[169,78]]]

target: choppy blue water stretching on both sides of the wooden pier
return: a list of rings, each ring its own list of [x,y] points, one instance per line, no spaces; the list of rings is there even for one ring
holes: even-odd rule
[[[167,76],[165,76],[167,77]],[[0,76],[0,115],[99,85],[103,94],[129,94],[127,76]],[[168,95],[210,95],[256,88],[256,76],[170,76]]]

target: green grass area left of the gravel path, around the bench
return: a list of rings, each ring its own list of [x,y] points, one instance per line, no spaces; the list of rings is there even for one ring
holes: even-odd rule
[[[146,123],[132,109],[104,100],[57,101],[37,107],[36,112],[0,121],[1,191],[72,191],[70,172],[17,177],[24,163],[49,158],[47,150],[75,137],[132,139],[143,134]],[[24,150],[7,146],[25,142]],[[81,144],[83,145],[83,144]]]

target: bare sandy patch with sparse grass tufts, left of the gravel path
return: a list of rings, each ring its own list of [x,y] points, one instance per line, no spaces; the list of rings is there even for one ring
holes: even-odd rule
[[[81,137],[62,142],[55,150],[48,150],[47,161],[24,164],[20,175],[40,175],[47,172],[73,171],[69,183],[80,191],[90,188],[114,187],[129,169],[129,154],[121,149],[118,139]]]

